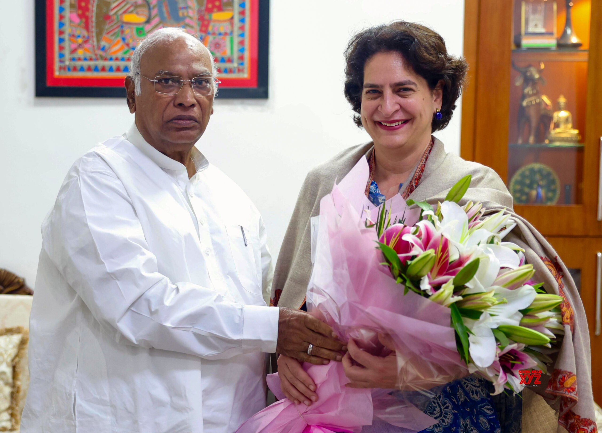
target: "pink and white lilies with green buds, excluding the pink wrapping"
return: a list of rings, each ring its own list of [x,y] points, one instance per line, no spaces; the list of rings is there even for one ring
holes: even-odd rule
[[[409,200],[421,209],[418,222],[406,226],[380,207],[374,227],[383,265],[403,290],[425,296],[451,310],[456,345],[471,373],[520,392],[520,370],[546,372],[551,343],[563,334],[559,304],[532,280],[535,271],[524,250],[504,236],[515,226],[501,210],[485,215],[480,203],[459,206],[471,177],[460,180],[436,209]]]

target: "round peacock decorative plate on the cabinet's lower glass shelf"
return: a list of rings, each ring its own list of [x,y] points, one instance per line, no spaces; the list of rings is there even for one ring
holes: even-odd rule
[[[512,176],[510,194],[517,204],[556,204],[560,197],[560,180],[550,167],[534,162]]]

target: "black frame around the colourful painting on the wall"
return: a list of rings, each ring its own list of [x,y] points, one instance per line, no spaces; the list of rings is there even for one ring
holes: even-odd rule
[[[46,84],[46,0],[36,0],[36,97],[124,98],[124,87],[67,87]],[[267,99],[269,83],[270,0],[259,1],[257,87],[222,87],[220,99]]]

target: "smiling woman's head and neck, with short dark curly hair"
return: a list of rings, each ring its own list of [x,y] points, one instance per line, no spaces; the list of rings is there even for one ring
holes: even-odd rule
[[[380,203],[404,185],[409,195],[408,177],[451,120],[468,66],[447,54],[441,35],[403,21],[359,32],[345,57],[345,97],[374,142],[369,197]]]

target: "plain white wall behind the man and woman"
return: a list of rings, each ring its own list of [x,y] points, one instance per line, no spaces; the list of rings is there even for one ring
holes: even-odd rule
[[[0,268],[32,287],[40,224],[70,165],[133,121],[125,100],[34,97],[33,3],[12,2],[0,26]],[[307,171],[368,141],[343,96],[347,40],[367,26],[405,19],[429,25],[461,54],[464,0],[270,3],[270,99],[218,98],[197,146],[255,202],[276,256]],[[460,107],[437,135],[459,153]]]

